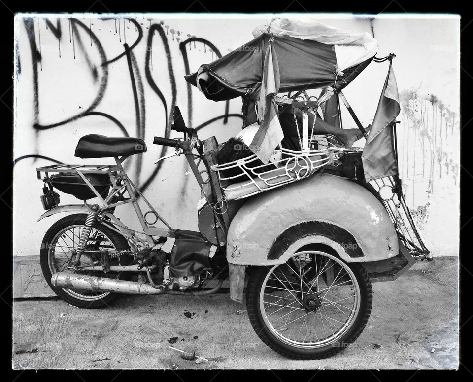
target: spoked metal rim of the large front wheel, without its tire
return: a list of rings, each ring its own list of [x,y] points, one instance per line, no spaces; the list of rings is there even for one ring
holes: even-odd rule
[[[297,252],[268,272],[259,296],[265,325],[281,342],[314,349],[338,342],[360,310],[353,271],[325,252]]]

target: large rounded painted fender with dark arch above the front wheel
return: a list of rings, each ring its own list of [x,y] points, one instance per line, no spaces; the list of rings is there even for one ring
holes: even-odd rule
[[[370,191],[318,174],[249,199],[230,224],[227,260],[245,266],[282,264],[308,244],[335,251],[346,262],[399,253],[393,223]]]

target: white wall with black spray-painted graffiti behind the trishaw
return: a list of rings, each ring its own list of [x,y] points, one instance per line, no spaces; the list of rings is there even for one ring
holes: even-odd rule
[[[37,155],[64,163],[111,163],[109,159],[74,157],[77,141],[83,135],[124,135],[107,117],[83,115],[89,109],[112,116],[130,136],[139,135],[145,139],[148,152],[128,159],[129,175],[139,185],[152,179],[144,194],[171,226],[197,229],[196,203],[200,192],[185,159],[167,160],[153,175],[156,167],[153,162],[160,157],[161,147],[151,142],[155,135],[164,136],[165,108],[151,84],[155,83],[162,92],[168,114],[174,93],[175,103],[193,127],[224,115],[225,102],[209,101],[192,88],[192,117],[189,118],[187,86],[183,78],[185,66],[179,42],[188,36],[204,38],[224,55],[251,40],[253,28],[264,23],[266,18],[261,15],[258,18],[192,17],[134,16],[135,25],[124,18],[77,16],[78,21],[71,24],[68,17],[34,16],[30,24],[30,27],[34,26],[34,36],[30,35],[30,40],[25,26],[27,16],[16,17],[14,158],[34,156],[23,158],[14,166],[14,255],[38,254],[45,231],[60,218],[55,216],[36,222],[43,210],[39,200],[42,182],[36,179],[35,168],[53,163]],[[378,56],[396,53],[394,70],[403,99],[398,138],[407,203],[415,211],[415,219],[434,255],[456,255],[459,235],[459,20],[379,18],[372,22],[340,19],[340,16],[313,18],[345,29],[374,31],[380,43]],[[147,41],[153,24],[165,32],[169,54],[156,31],[151,38],[150,62],[146,65]],[[122,54],[123,44],[132,46],[139,36],[139,29],[143,36],[132,50],[136,60],[137,109],[140,111],[137,120],[126,56],[101,66],[100,51],[103,49],[107,60]],[[174,40],[169,32],[171,29],[180,31],[179,36],[174,33]],[[36,82],[31,41],[40,50],[42,58],[37,62]],[[185,49],[191,72],[217,58],[208,43],[191,42]],[[387,63],[372,63],[344,91],[365,125],[372,121],[387,68]],[[172,79],[175,81],[174,92]],[[97,98],[99,100],[94,103]],[[240,109],[240,99],[230,101],[229,114],[238,114]],[[355,127],[346,113],[344,126]],[[241,119],[230,116],[227,123],[218,119],[208,124],[199,135],[201,138],[215,135],[219,142],[224,142],[240,128]],[[172,132],[171,136],[177,136],[177,133]],[[364,140],[358,142],[358,145],[363,144]],[[61,204],[68,202],[79,201],[62,194]],[[138,227],[131,209],[123,208],[117,215],[131,228]]]

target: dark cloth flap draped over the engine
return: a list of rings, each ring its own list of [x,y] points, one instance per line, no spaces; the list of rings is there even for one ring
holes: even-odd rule
[[[175,243],[169,259],[169,274],[172,277],[194,276],[210,269],[208,254],[212,244],[202,233],[176,229]]]

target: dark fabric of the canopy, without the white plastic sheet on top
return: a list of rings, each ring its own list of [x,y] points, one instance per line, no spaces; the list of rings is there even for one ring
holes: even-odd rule
[[[271,35],[265,33],[218,60],[202,65],[210,76],[206,87],[203,87],[205,97],[221,101],[246,95],[252,101],[258,100],[270,38]],[[343,89],[371,62],[369,59],[345,69],[343,76],[340,76],[336,73],[334,45],[292,37],[273,38],[279,65],[280,93],[325,86]],[[185,76],[185,79],[197,86],[197,72]],[[201,86],[204,85],[201,81]]]

